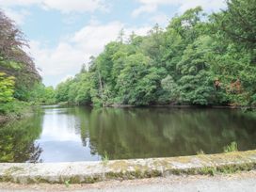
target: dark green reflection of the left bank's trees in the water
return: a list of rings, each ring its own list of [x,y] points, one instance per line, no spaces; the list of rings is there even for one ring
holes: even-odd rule
[[[41,162],[42,149],[34,142],[40,136],[41,120],[35,116],[0,127],[0,163]]]

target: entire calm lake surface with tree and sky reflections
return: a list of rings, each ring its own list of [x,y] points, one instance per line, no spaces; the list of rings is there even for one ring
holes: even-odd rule
[[[0,162],[97,161],[256,149],[256,117],[229,109],[44,106],[0,127]]]

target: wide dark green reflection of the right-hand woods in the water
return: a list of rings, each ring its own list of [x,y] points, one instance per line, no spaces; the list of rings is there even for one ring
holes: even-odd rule
[[[90,143],[111,159],[222,152],[236,141],[255,149],[255,120],[239,111],[103,109],[92,111]]]

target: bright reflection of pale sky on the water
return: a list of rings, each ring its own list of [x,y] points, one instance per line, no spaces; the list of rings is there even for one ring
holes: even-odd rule
[[[42,133],[37,140],[43,152],[43,162],[95,161],[101,157],[91,155],[87,136],[81,139],[84,111],[79,108],[44,109]],[[83,136],[83,135],[82,135]]]

